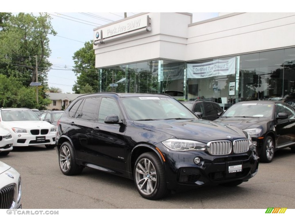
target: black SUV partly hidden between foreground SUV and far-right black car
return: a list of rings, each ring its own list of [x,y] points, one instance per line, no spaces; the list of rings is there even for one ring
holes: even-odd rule
[[[222,107],[212,100],[198,99],[195,101],[181,101],[181,103],[202,119],[214,121],[217,115],[224,113]]]

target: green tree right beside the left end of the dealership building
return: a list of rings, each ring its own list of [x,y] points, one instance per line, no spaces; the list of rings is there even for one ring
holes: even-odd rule
[[[82,93],[81,89],[90,85],[93,91],[98,91],[98,72],[95,69],[95,54],[93,50],[93,40],[85,42],[84,47],[74,53],[74,72],[77,81],[73,86],[73,91]]]

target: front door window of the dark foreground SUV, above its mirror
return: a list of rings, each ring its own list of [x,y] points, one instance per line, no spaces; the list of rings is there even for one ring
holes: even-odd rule
[[[115,114],[119,116],[120,119],[120,110],[116,101],[112,98],[102,98],[99,106],[98,120],[100,123],[103,123],[106,119],[106,116]]]

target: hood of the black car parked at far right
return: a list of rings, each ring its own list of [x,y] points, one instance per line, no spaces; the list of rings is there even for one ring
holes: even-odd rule
[[[242,130],[245,130],[248,128],[258,127],[262,124],[267,124],[268,121],[270,120],[269,119],[266,120],[265,118],[221,117],[215,120],[214,122],[230,124]]]

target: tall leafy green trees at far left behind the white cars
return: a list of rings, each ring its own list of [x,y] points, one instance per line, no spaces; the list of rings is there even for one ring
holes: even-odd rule
[[[40,13],[39,16],[34,16],[32,13],[19,13],[17,15],[0,13],[0,74],[6,76],[8,80],[18,80],[18,85],[11,89],[7,88],[4,92],[14,97],[16,95],[12,91],[21,87],[17,94],[22,93],[22,96],[25,96],[22,98],[22,102],[4,99],[1,105],[40,108],[48,103],[47,100],[43,101],[43,98],[45,98],[44,88],[48,87],[47,72],[51,67],[48,60],[51,53],[48,34],[57,33],[54,31],[51,18],[47,14]],[[37,55],[38,82],[41,82],[43,86],[39,90],[39,105],[34,104],[36,88],[29,86],[31,82],[36,81],[35,55]],[[22,86],[25,88],[22,88]],[[34,96],[35,98],[29,102],[27,98]],[[26,100],[27,103],[24,102]],[[21,103],[15,103],[16,101]]]

